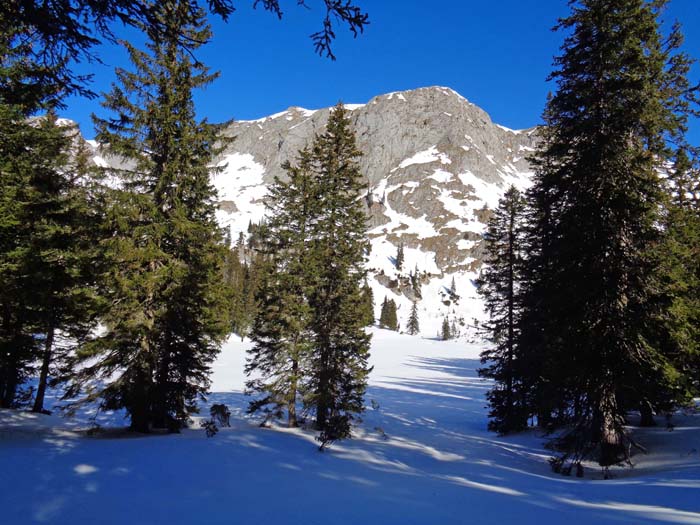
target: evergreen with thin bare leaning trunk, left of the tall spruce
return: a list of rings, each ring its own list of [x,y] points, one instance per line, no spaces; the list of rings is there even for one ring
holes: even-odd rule
[[[48,126],[55,126],[49,113]],[[58,129],[64,135],[64,158],[45,178],[33,181],[33,202],[28,212],[34,219],[29,229],[24,271],[31,276],[25,292],[31,294],[33,317],[41,333],[39,381],[32,410],[44,409],[49,376],[58,379],[75,343],[84,341],[97,324],[101,301],[95,288],[95,269],[102,265],[94,224],[101,220],[96,181],[88,168],[88,153],[80,142],[68,159],[75,129]],[[39,175],[40,172],[34,172]],[[37,220],[38,219],[38,220]]]

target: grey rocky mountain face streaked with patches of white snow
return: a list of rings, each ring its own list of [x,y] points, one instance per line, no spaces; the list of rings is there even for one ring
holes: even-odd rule
[[[455,91],[430,87],[390,93],[367,104],[346,105],[354,125],[369,217],[372,251],[368,269],[377,315],[385,296],[399,307],[406,326],[418,299],[408,273],[421,275],[421,333],[435,336],[445,316],[463,334],[482,316],[473,279],[481,266],[482,234],[489,210],[508,186],[530,181],[527,156],[535,129],[513,131]],[[323,131],[331,108],[287,111],[230,124],[235,137],[217,162],[219,220],[232,238],[265,213],[267,184],[284,177],[281,165]],[[395,257],[404,246],[399,271]],[[455,281],[456,296],[449,292]],[[457,297],[458,296],[458,297]],[[464,323],[464,324],[463,324]],[[472,330],[473,333],[473,330]]]

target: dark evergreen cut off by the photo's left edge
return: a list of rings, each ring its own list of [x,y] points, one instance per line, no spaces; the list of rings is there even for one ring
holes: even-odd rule
[[[26,121],[23,108],[0,104],[0,407],[14,406],[34,371],[40,331],[31,297],[32,230],[41,224],[39,186],[57,179],[64,141],[53,122]],[[52,195],[55,197],[55,194]],[[32,268],[35,269],[35,268]]]

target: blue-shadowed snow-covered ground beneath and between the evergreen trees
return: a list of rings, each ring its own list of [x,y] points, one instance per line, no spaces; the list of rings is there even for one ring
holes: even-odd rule
[[[130,435],[119,414],[88,437],[89,411],[0,411],[0,523],[700,523],[698,415],[638,433],[651,453],[615,479],[554,475],[542,436],[485,430],[479,346],[375,330],[364,422],[322,453],[311,431],[244,415],[247,346],[216,362],[209,402],[234,416],[211,439]]]

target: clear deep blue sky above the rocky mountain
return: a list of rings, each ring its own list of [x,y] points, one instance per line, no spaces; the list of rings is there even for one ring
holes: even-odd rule
[[[563,39],[551,28],[568,13],[566,0],[356,0],[371,23],[357,39],[337,28],[333,62],[317,56],[308,38],[320,27],[318,0],[307,0],[310,10],[281,0],[281,21],[254,11],[252,3],[237,0],[228,23],[212,20],[214,39],[199,50],[221,72],[196,95],[199,115],[212,122],[259,118],[289,106],[362,103],[390,91],[443,85],[499,124],[533,126],[553,89],[546,78]],[[700,1],[671,0],[665,19],[681,22],[685,51],[700,59]],[[113,67],[128,62],[118,46],[98,52],[105,65],[85,65],[84,71],[94,73],[93,89],[99,92],[113,81]],[[691,78],[700,81],[700,64]],[[91,137],[92,112],[105,115],[97,100],[71,99],[64,113]],[[700,145],[700,122],[693,122],[689,138]]]

